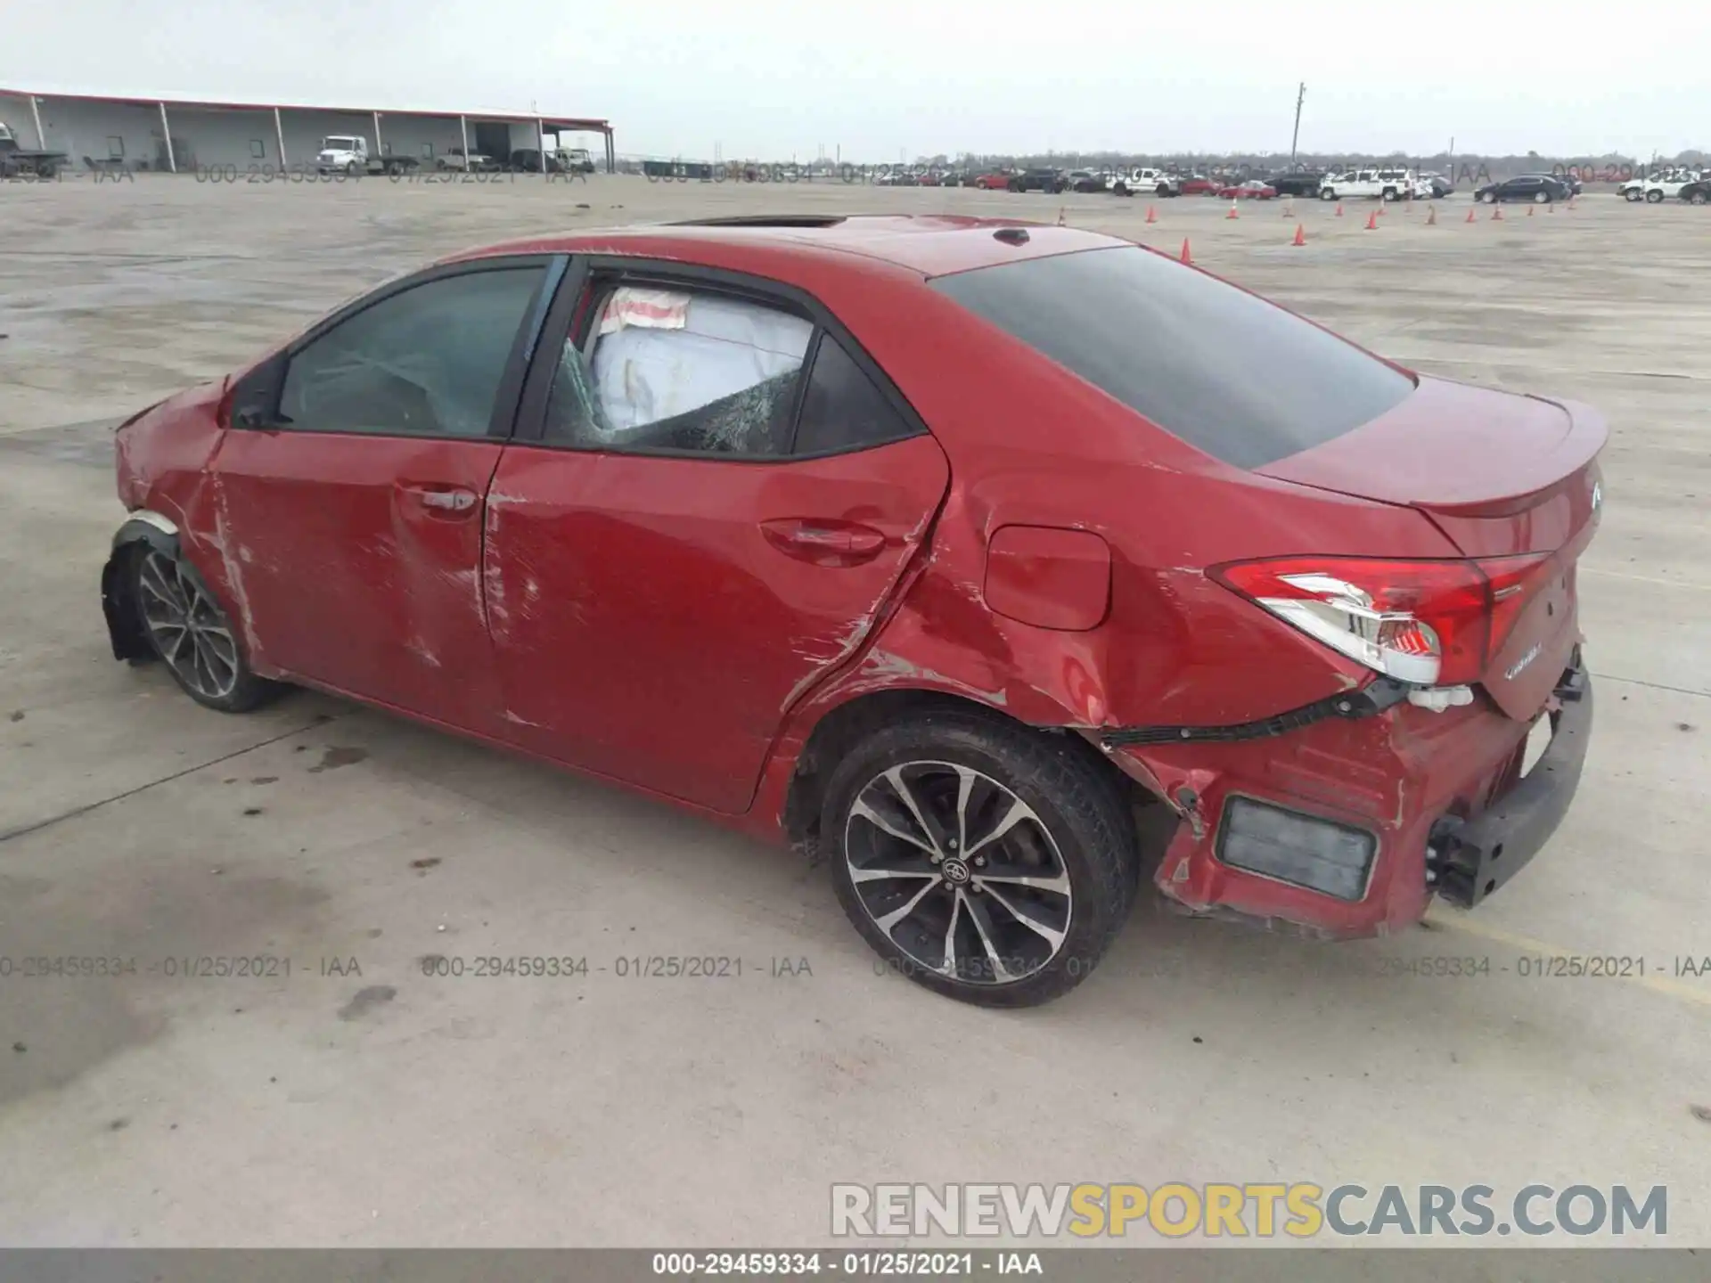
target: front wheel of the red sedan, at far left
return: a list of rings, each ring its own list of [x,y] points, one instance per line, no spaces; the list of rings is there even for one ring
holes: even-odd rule
[[[204,708],[246,713],[282,689],[257,677],[226,609],[195,566],[157,547],[132,558],[132,600],[154,653]]]

